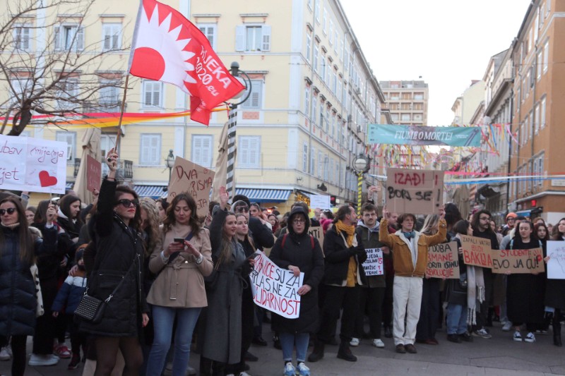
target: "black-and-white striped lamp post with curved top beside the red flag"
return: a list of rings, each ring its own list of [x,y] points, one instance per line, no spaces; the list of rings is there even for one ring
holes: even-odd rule
[[[247,73],[239,69],[239,63],[237,63],[237,61],[232,63],[230,71],[234,77],[239,77],[239,74],[242,74],[246,78],[246,80],[243,79],[246,90],[244,99],[241,102],[230,103],[230,111],[227,116],[227,168],[225,190],[228,195],[230,195],[230,198],[233,198],[235,195],[235,133],[237,128],[237,106],[249,99],[251,95],[251,78],[249,78]]]

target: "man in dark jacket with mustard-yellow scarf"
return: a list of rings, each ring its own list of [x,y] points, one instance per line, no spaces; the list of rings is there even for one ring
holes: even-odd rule
[[[355,234],[357,214],[349,205],[342,205],[335,214],[333,226],[323,239],[323,253],[326,267],[323,274],[326,298],[314,351],[308,357],[311,362],[323,358],[324,347],[331,341],[343,308],[340,328],[340,347],[338,358],[355,362],[357,357],[351,353],[350,341],[353,337],[355,317],[359,310],[359,289],[364,284],[365,272],[362,263],[367,253],[359,234]]]

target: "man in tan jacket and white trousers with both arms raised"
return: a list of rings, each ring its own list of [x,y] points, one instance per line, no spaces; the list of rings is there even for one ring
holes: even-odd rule
[[[426,274],[428,247],[441,243],[446,238],[444,213],[439,220],[437,234],[427,236],[414,231],[414,214],[400,214],[400,230],[388,233],[390,213],[383,209],[383,219],[379,229],[379,241],[388,245],[393,253],[394,287],[393,336],[397,353],[417,353],[414,346],[416,325],[420,319],[422,304],[422,278]],[[406,316],[406,325],[404,319]]]

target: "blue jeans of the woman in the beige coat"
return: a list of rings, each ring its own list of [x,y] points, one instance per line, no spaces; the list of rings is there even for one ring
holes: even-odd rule
[[[147,361],[147,376],[160,376],[165,367],[175,316],[177,316],[177,331],[174,332],[172,375],[184,375],[189,365],[192,332],[200,311],[201,308],[169,308],[153,305],[155,338]]]

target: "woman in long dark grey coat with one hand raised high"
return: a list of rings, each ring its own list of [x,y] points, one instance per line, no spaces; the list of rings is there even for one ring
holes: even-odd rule
[[[226,210],[228,195],[220,188],[220,210],[210,224],[213,273],[208,277],[208,308],[203,323],[201,375],[223,376],[228,364],[242,356],[242,291],[254,261],[246,259],[237,241],[237,219]]]

